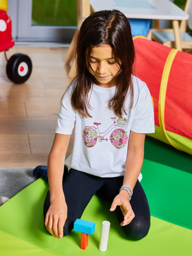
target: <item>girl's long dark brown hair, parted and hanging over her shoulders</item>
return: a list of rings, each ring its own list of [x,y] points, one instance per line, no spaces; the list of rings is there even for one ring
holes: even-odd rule
[[[126,113],[124,102],[128,90],[131,93],[131,99],[133,97],[131,75],[134,63],[134,45],[129,21],[123,13],[117,10],[92,13],[81,26],[77,38],[77,75],[71,99],[72,107],[81,116],[90,116],[88,93],[92,88],[94,77],[88,71],[86,63],[91,67],[90,52],[93,47],[102,44],[111,46],[115,61],[120,64],[120,70],[115,80],[116,92],[114,97],[109,100],[108,107],[114,111],[116,116],[122,117],[122,113]]]

